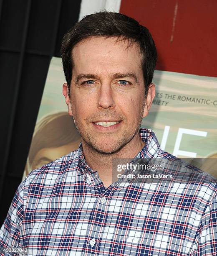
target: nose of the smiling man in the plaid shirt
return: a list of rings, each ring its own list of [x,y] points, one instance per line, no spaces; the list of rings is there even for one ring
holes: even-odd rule
[[[115,107],[114,95],[113,95],[113,91],[111,88],[111,84],[109,84],[109,83],[101,84],[101,87],[100,87],[100,90],[98,93],[97,107],[99,109]]]

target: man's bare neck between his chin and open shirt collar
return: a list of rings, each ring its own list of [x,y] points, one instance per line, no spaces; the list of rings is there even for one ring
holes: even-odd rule
[[[109,187],[112,183],[112,159],[132,159],[145,146],[144,141],[139,137],[139,131],[131,141],[114,153],[103,154],[89,146],[83,138],[81,138],[81,142],[86,163],[91,169],[98,172],[105,187]]]

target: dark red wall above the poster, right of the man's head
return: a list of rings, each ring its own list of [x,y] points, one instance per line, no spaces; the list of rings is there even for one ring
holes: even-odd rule
[[[156,69],[217,77],[217,0],[122,0],[120,13],[151,32]]]

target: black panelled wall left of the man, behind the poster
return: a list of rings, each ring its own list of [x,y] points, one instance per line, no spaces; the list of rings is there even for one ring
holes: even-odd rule
[[[60,57],[80,2],[0,2],[0,226],[23,177],[50,59]]]

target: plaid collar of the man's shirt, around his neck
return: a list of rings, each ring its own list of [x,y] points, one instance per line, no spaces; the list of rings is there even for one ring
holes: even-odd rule
[[[140,158],[146,158],[146,159],[156,158],[159,155],[161,149],[154,132],[151,129],[140,128],[139,135],[141,140],[145,142],[145,146],[136,155],[136,157],[134,158],[134,161]],[[79,165],[83,169],[81,170],[81,173],[83,173],[83,171],[87,172],[88,174],[93,174],[94,172],[96,172],[96,171],[93,171],[91,167],[89,167],[86,164],[86,160],[83,154],[82,143],[80,143],[80,146],[78,148],[78,160],[79,160]]]

